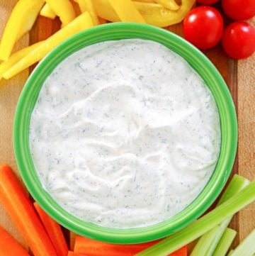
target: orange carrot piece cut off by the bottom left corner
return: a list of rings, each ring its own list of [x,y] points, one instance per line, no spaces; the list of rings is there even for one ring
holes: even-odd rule
[[[28,252],[6,231],[0,227],[0,256],[29,256]]]

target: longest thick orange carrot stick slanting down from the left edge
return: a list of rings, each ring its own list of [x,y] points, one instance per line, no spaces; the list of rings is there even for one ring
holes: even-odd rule
[[[57,256],[33,204],[8,165],[0,167],[0,201],[35,256]]]

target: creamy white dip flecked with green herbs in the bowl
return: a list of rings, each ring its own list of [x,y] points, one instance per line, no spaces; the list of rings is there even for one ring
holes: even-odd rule
[[[203,79],[149,40],[97,43],[47,77],[30,121],[40,182],[78,218],[150,226],[196,199],[220,152],[220,119]]]

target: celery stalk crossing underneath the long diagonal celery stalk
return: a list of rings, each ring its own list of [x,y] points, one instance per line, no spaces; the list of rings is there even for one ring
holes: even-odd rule
[[[244,177],[235,174],[234,177],[229,182],[227,189],[220,197],[220,200],[218,201],[217,206],[227,201],[227,199],[229,199],[231,196],[234,196],[234,194],[237,194],[241,189],[246,187],[247,184],[249,184],[248,179],[245,179]],[[224,221],[222,221],[222,223],[220,223],[220,228],[218,229],[217,233],[211,233],[211,235],[208,235],[207,233],[205,233],[204,235],[201,236],[201,238],[198,240],[197,245],[193,249],[196,251],[197,255],[201,255],[201,256],[213,255],[213,252],[215,251],[217,244],[220,242],[220,239],[222,238],[222,235],[225,232],[227,226],[232,220],[232,217],[233,216],[229,216]],[[204,246],[200,247],[201,251],[198,250],[197,248],[197,246],[199,247],[200,245],[199,243],[200,240],[203,240],[203,243],[204,243]]]

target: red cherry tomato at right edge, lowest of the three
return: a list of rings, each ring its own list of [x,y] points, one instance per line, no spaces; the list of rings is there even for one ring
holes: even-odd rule
[[[244,59],[255,51],[255,29],[243,21],[231,23],[222,36],[222,46],[233,59]]]

